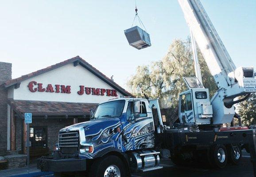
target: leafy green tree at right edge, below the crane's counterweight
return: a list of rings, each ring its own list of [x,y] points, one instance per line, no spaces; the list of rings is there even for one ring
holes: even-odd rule
[[[252,93],[251,96],[239,103],[238,113],[241,116],[243,125],[255,125],[256,124],[256,93]]]

